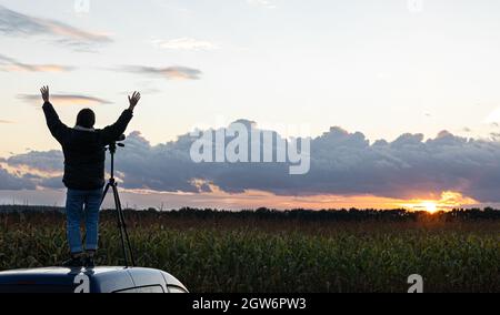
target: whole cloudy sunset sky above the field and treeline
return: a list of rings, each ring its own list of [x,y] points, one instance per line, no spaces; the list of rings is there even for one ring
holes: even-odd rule
[[[0,204],[62,204],[48,84],[71,126],[84,106],[112,123],[141,91],[129,205],[498,205],[499,16],[496,0],[0,0]],[[310,174],[190,165],[194,126],[239,119],[306,125],[277,131],[312,139]]]

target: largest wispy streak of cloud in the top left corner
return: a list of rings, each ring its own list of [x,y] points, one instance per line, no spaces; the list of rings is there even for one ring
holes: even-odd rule
[[[84,31],[69,24],[27,16],[0,6],[0,33],[13,37],[49,35],[56,42],[77,50],[88,50],[91,45],[112,42],[104,34]]]

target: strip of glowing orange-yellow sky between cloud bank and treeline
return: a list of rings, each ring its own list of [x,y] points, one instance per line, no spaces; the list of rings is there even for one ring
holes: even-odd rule
[[[37,205],[64,205],[66,191],[51,189],[37,189],[33,191],[0,191],[1,204],[37,204]],[[126,207],[170,210],[181,207],[220,209],[220,210],[256,210],[259,207],[292,210],[341,210],[341,209],[374,209],[427,211],[436,213],[439,211],[451,211],[452,209],[476,207],[478,203],[473,200],[462,197],[461,200],[396,200],[371,195],[317,195],[317,196],[286,196],[274,195],[261,191],[248,191],[241,194],[230,194],[226,192],[217,193],[186,193],[186,192],[156,192],[150,190],[123,190],[120,189],[122,203]],[[449,193],[449,192],[448,192]],[[444,193],[446,194],[446,193]],[[110,206],[111,204],[104,204]]]

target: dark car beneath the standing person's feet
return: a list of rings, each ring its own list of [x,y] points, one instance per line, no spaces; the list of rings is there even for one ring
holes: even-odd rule
[[[172,275],[141,267],[46,267],[0,272],[0,293],[188,293]]]

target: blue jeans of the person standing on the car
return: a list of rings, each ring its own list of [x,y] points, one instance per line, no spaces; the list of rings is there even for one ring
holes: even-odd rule
[[[68,243],[71,253],[81,253],[80,224],[86,222],[86,250],[96,251],[99,233],[99,207],[101,205],[102,189],[93,191],[78,191],[68,189],[66,195],[66,215]]]

